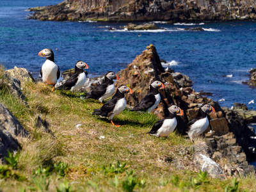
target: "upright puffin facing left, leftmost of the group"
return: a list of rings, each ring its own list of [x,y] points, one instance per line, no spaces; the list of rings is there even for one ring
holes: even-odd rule
[[[47,84],[52,84],[52,91],[60,78],[60,67],[54,63],[54,53],[51,49],[43,49],[38,52],[38,56],[45,57],[46,61],[41,67],[40,74],[42,76],[44,86]]]

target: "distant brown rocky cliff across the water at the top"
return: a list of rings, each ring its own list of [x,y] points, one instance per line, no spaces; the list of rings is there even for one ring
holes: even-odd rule
[[[256,19],[256,2],[249,0],[65,0],[31,8],[39,20],[248,20]]]

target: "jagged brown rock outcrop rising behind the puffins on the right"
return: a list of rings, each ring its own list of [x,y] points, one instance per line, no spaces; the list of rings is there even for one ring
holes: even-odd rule
[[[126,95],[127,104],[129,106],[135,106],[148,93],[150,83],[156,80],[164,83],[165,88],[160,91],[161,95],[163,95],[163,100],[152,112],[159,118],[163,118],[164,110],[167,106],[170,104],[180,106],[184,110],[184,115],[182,118],[178,117],[178,132],[182,132],[182,127],[189,120],[196,117],[200,104],[204,102],[210,103],[217,112],[209,114],[210,125],[204,132],[205,142],[209,145],[211,154],[193,156],[195,161],[198,162],[198,167],[203,164],[211,167],[211,170],[216,171],[215,173],[212,172],[212,177],[219,177],[218,175],[221,172],[230,173],[230,169],[233,170],[232,174],[239,175],[255,171],[248,161],[256,159],[256,134],[248,128],[244,118],[237,111],[221,108],[218,102],[207,97],[202,97],[200,93],[195,92],[190,87],[191,80],[188,77],[173,72],[173,70],[170,71],[172,72],[164,70],[161,66],[156,47],[154,45],[148,45],[147,50],[136,56],[134,61],[118,74],[120,79],[116,87],[120,84],[130,86],[133,93]],[[240,106],[246,109],[244,105],[237,104],[236,106],[237,108]],[[219,157],[224,157],[228,161],[226,164],[221,164],[220,169],[217,168],[218,163],[211,163],[214,158],[218,159]],[[202,159],[207,161],[209,165],[207,163],[205,164]],[[225,166],[226,168],[224,168]]]

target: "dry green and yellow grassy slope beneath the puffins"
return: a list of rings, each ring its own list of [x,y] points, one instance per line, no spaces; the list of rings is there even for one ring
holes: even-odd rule
[[[122,127],[113,127],[108,120],[92,116],[93,109],[101,105],[95,100],[80,99],[83,94],[51,92],[50,86],[44,87],[42,83],[27,83],[24,87],[29,108],[5,88],[0,90],[0,102],[32,136],[31,139],[19,138],[22,150],[17,171],[26,179],[0,180],[3,191],[29,191],[31,187],[40,190],[40,185],[48,191],[56,191],[65,180],[74,191],[123,191],[129,189],[127,185],[132,185],[132,181],[136,191],[223,191],[227,184],[231,185],[231,178],[228,178],[211,179],[196,186],[198,170],[195,171],[189,157],[180,154],[180,150],[193,143],[175,133],[167,139],[145,134],[157,120],[152,114],[125,110],[113,119]],[[38,115],[47,120],[54,136],[35,128]],[[78,124],[81,125],[77,127]],[[177,157],[188,165],[186,169],[175,168],[172,160]],[[33,175],[33,170],[40,165],[51,166],[52,170],[53,164],[60,161],[68,164],[65,177],[53,171],[43,179],[42,175]],[[127,171],[133,170],[134,174],[111,173],[109,164],[115,168],[117,161],[126,163]],[[175,175],[179,176],[178,182],[175,182]],[[35,179],[42,180],[36,184]],[[240,178],[239,190],[255,189],[254,179],[255,175]],[[125,183],[128,183],[126,187]]]

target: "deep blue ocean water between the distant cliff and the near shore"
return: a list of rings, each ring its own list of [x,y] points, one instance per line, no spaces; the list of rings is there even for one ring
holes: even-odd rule
[[[61,1],[0,1],[0,63],[24,67],[38,77],[45,59],[38,56],[51,48],[60,70],[74,68],[76,61],[89,65],[88,76],[108,70],[118,72],[156,46],[164,67],[186,74],[197,92],[213,93],[221,106],[245,103],[256,110],[256,88],[242,84],[256,68],[256,22],[155,22],[156,31],[127,31],[127,22],[52,22],[29,20],[28,8]],[[185,28],[204,31],[186,31]],[[109,30],[111,28],[112,30]],[[251,100],[255,103],[248,104]]]

